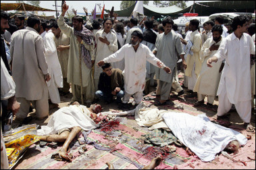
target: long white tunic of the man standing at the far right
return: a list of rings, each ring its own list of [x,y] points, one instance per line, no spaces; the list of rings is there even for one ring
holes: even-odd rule
[[[230,103],[251,101],[250,54],[255,54],[255,45],[249,34],[240,40],[234,32],[224,38],[215,56],[226,59],[217,95],[226,88]]]

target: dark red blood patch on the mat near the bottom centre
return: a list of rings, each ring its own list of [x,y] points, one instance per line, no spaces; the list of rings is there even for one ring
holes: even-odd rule
[[[154,159],[155,157],[161,157],[162,159],[167,159],[169,153],[165,152],[159,147],[151,146],[145,150],[145,157],[147,159]]]

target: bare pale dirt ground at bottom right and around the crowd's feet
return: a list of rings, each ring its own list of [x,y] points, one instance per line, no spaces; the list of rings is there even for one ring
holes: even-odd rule
[[[150,88],[150,92],[154,91],[155,87]],[[180,97],[180,103],[184,102],[182,100],[185,100],[187,103],[189,103],[191,106],[196,101],[197,98],[186,98],[187,89],[184,88],[185,94]],[[177,94],[175,91],[171,92],[171,98],[172,96],[175,96]],[[148,95],[149,96],[149,95]],[[72,93],[67,94],[66,96],[61,96],[61,103],[59,103],[58,108],[51,109],[53,105],[49,105],[49,117],[44,120],[36,120],[36,115],[33,112],[29,113],[29,116],[32,116],[33,119],[30,123],[36,123],[38,125],[47,125],[49,119],[51,118],[51,115],[57,111],[57,109],[61,107],[66,107],[70,103],[72,98]],[[183,99],[182,99],[183,98]],[[206,101],[206,100],[205,100]],[[105,105],[103,102],[99,102],[99,104],[102,105],[103,111],[111,111],[111,110],[118,110],[118,105],[116,103],[111,103],[109,105]],[[179,105],[179,103],[175,103],[175,105]],[[218,101],[215,101],[214,105],[218,105]],[[154,105],[151,105],[152,108],[154,108]],[[161,109],[161,108],[159,108]],[[196,109],[194,107],[190,107],[193,111],[199,111],[203,112],[203,110],[200,111],[200,109]],[[254,113],[255,114],[255,113]],[[216,119],[217,115],[215,112],[209,112],[207,113],[207,116],[209,119],[214,120]],[[14,119],[13,122],[13,128],[17,128],[20,122],[16,121]],[[136,121],[134,121],[136,123]],[[224,157],[222,154],[216,157],[214,161],[211,161],[211,163],[203,163],[199,159],[190,159],[188,163],[184,163],[183,165],[180,165],[178,169],[255,169],[255,132],[249,133],[246,132],[243,129],[242,120],[236,113],[236,111],[230,112],[230,123],[232,125],[230,128],[233,130],[237,130],[238,132],[244,134],[245,136],[249,135],[251,136],[251,140],[248,140],[247,144],[240,148],[238,154],[232,154],[233,160],[230,160],[226,157]],[[253,127],[255,128],[255,123],[252,122]]]

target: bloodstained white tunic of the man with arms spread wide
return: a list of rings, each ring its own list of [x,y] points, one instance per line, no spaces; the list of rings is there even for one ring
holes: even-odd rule
[[[163,64],[150,51],[149,47],[140,43],[137,51],[132,45],[126,44],[116,53],[103,59],[105,63],[121,61],[124,59],[124,90],[128,94],[142,92],[145,88],[146,61],[157,66],[157,62]]]

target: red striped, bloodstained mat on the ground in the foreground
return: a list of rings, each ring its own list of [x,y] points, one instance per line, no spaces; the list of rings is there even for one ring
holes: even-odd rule
[[[98,128],[90,134],[82,132],[78,140],[70,144],[71,163],[51,159],[62,144],[56,149],[33,144],[14,169],[106,169],[107,162],[112,163],[115,169],[141,169],[151,162],[149,156],[152,152],[145,150],[150,147],[157,150],[159,146],[144,143],[144,136],[150,131],[138,126],[134,119],[118,117],[118,120],[120,123],[109,131]],[[78,151],[82,146],[87,150],[80,154]],[[181,165],[189,159],[183,148],[177,148],[176,152],[165,154],[165,160],[157,169],[173,169],[174,165]]]

